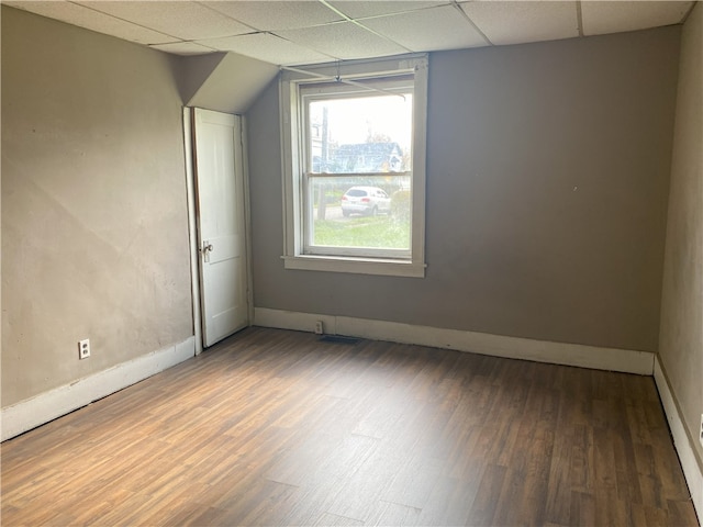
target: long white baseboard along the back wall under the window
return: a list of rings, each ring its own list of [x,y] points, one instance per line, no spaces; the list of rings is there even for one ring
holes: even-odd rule
[[[256,326],[314,332],[316,321],[322,321],[324,333],[332,335],[417,344],[494,357],[621,371],[640,375],[651,375],[654,371],[655,354],[648,351],[550,343],[487,333],[414,326],[397,322],[371,321],[348,316],[269,310],[267,307],[255,307],[254,310],[254,325]]]

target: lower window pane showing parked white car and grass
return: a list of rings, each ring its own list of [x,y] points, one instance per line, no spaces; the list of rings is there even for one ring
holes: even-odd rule
[[[311,177],[308,203],[311,251],[322,247],[410,251],[409,175]]]

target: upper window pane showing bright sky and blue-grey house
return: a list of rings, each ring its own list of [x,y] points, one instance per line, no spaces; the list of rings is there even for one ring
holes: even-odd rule
[[[412,93],[309,100],[308,171],[405,172],[412,166]]]

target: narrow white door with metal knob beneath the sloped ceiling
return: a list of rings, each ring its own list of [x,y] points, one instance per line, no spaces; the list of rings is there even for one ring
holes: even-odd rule
[[[241,119],[194,109],[203,344],[248,324]]]

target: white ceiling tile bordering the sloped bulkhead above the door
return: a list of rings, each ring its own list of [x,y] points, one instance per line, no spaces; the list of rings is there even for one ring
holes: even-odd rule
[[[326,63],[334,58],[268,33],[203,40],[198,41],[198,43],[223,52],[235,52],[239,55],[279,66]]]

